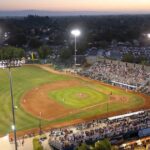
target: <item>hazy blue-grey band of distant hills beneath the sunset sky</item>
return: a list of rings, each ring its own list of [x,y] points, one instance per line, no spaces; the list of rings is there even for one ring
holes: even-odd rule
[[[119,14],[150,14],[149,12],[101,12],[101,11],[43,11],[43,10],[21,10],[0,11],[0,17],[22,17],[28,15],[38,16],[79,16],[79,15],[119,15]]]

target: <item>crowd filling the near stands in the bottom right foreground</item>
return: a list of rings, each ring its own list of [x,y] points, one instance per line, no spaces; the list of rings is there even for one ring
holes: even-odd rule
[[[81,143],[91,144],[109,138],[111,143],[137,137],[142,129],[150,129],[150,110],[124,117],[93,120],[51,131],[49,144],[59,150],[73,149]]]

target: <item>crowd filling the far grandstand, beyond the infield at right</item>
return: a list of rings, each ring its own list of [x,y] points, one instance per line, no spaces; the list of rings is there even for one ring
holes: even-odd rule
[[[127,63],[112,63],[98,61],[87,70],[79,73],[95,80],[107,81],[110,83],[122,83],[135,87],[141,87],[149,84],[150,72],[145,70],[144,66],[130,66]],[[150,86],[148,86],[150,92]]]

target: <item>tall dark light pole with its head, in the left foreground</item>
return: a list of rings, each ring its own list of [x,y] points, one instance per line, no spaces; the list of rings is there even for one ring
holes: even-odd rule
[[[17,150],[17,135],[16,135],[16,119],[15,119],[15,109],[17,107],[14,106],[14,97],[13,97],[13,87],[12,87],[12,75],[11,75],[11,68],[21,67],[22,62],[19,60],[2,60],[0,62],[1,68],[8,68],[9,71],[9,84],[10,84],[10,96],[11,96],[11,107],[12,107],[12,119],[13,124],[11,126],[13,133],[14,133],[14,141],[15,141],[15,150]]]

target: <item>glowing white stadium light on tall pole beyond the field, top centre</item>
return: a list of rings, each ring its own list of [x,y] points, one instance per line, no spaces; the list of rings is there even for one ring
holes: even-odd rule
[[[76,69],[76,62],[77,62],[77,58],[76,58],[76,54],[77,54],[77,37],[80,36],[81,32],[79,29],[74,29],[71,31],[71,34],[74,36],[74,66]]]

